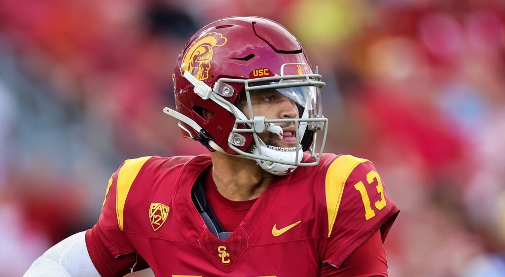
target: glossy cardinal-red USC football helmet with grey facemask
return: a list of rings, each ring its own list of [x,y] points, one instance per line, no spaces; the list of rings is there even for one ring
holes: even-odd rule
[[[325,84],[317,70],[313,73],[304,48],[280,24],[260,17],[215,21],[186,42],[172,77],[177,111],[164,111],[180,120],[185,138],[211,151],[254,159],[276,175],[319,162],[327,130],[320,100]],[[298,117],[253,114],[251,95],[267,90],[289,98]],[[247,115],[237,107],[245,100]],[[295,127],[288,132],[289,125]],[[316,133],[323,129],[316,155]],[[284,133],[295,136],[295,147],[268,145],[260,138],[262,132],[275,133],[281,140]],[[302,163],[302,152],[309,150],[315,160]]]

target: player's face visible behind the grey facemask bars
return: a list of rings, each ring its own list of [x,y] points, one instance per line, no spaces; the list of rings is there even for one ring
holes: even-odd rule
[[[296,102],[273,89],[251,92],[250,101],[254,116],[265,116],[266,119],[291,119],[299,116]],[[249,115],[245,95],[241,97],[237,106],[245,115]],[[282,140],[277,134],[265,131],[258,134],[263,142],[276,147],[295,147],[296,131],[294,123],[286,122],[277,123],[276,125],[281,126],[284,131]]]

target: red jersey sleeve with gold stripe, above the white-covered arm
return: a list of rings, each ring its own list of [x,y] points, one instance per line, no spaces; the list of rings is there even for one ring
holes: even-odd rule
[[[113,257],[135,252],[123,232],[123,212],[130,187],[149,158],[126,160],[109,179],[102,214],[93,230]]]

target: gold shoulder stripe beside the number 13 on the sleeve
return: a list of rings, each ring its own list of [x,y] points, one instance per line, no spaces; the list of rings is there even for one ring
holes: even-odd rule
[[[331,235],[335,219],[337,218],[338,207],[344,192],[344,185],[352,170],[359,164],[368,160],[356,158],[351,155],[342,155],[331,163],[326,172],[326,209],[328,210],[328,237]]]

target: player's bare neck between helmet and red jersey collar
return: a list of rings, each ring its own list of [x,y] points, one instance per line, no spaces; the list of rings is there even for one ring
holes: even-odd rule
[[[211,153],[211,157],[212,177],[219,193],[227,199],[245,201],[258,198],[274,179],[253,160],[219,152]]]

